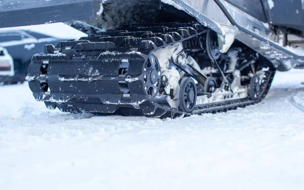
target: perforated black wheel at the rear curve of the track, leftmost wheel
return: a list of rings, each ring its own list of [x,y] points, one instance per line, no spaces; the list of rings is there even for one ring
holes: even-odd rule
[[[154,98],[161,85],[161,66],[154,55],[150,55],[143,67],[144,90],[150,98]]]

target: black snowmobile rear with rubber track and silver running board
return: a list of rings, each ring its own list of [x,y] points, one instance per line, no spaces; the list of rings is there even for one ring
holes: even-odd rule
[[[45,45],[29,65],[34,98],[63,112],[174,118],[232,110],[260,102],[277,70],[304,63],[300,0],[0,5],[0,27],[65,22],[88,34]]]

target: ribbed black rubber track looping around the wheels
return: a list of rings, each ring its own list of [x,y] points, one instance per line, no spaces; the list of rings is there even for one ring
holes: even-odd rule
[[[29,86],[37,101],[44,101],[48,108],[58,107],[63,112],[161,118],[191,115],[171,109],[168,105],[152,102],[142,86],[144,79],[141,68],[151,53],[174,43],[194,40],[207,31],[206,27],[195,22],[160,23],[101,32],[82,37],[78,41],[63,41],[55,48],[47,45],[44,53],[35,55],[31,60]],[[120,74],[119,68],[123,67],[126,57],[130,62],[126,66],[128,71]],[[42,69],[43,65],[46,67],[46,63],[47,72]],[[115,69],[115,64],[119,68]],[[86,74],[89,67],[93,71],[95,68],[106,71],[104,74],[92,76]],[[266,72],[260,96],[255,101],[246,98],[197,105],[192,114],[215,113],[258,103],[268,93],[274,74],[274,69]],[[138,81],[129,80],[136,77]],[[42,90],[42,85],[45,89],[48,86],[50,91]],[[78,90],[74,89],[75,86]],[[123,94],[122,90],[125,88],[122,86],[130,90],[129,94]],[[107,89],[114,90],[108,92]]]

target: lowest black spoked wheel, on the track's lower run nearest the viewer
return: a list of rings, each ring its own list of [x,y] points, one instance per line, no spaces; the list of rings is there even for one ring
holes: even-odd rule
[[[197,88],[190,77],[183,78],[179,89],[179,106],[181,111],[191,113],[195,109],[197,100]]]

